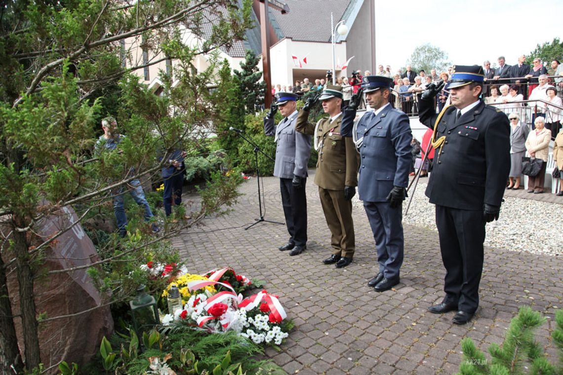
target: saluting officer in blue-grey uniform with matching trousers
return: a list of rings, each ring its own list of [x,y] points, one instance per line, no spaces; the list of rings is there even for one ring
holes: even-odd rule
[[[368,285],[377,292],[390,290],[400,281],[404,237],[402,206],[409,182],[413,138],[409,118],[389,104],[393,80],[385,76],[365,76],[361,89],[345,107],[341,133],[353,137],[360,152],[358,194],[376,241],[379,272]],[[354,125],[361,93],[373,111]]]

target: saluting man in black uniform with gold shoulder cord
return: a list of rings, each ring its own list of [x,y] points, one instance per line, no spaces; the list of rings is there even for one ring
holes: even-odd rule
[[[457,311],[455,324],[467,323],[479,306],[485,224],[498,219],[510,170],[508,118],[479,100],[484,79],[480,66],[458,65],[449,84],[452,105],[436,115],[432,98],[443,83],[430,85],[420,103],[420,121],[434,128],[426,196],[436,205],[446,269],[444,300],[428,310]]]

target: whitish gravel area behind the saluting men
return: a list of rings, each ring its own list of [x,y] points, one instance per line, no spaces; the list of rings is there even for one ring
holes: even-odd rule
[[[427,178],[418,181],[409,213],[405,215],[409,197],[403,204],[403,223],[437,231],[434,205],[424,192]],[[354,206],[363,204],[354,197]],[[510,251],[561,256],[563,254],[563,205],[522,198],[504,197],[501,215],[486,225],[485,246]]]

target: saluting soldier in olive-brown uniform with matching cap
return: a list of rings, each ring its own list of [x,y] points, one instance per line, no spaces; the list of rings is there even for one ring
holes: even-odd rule
[[[329,117],[315,125],[309,123],[309,110],[319,100]],[[295,130],[315,137],[315,149],[319,152],[315,184],[319,186],[320,203],[328,229],[332,233],[330,245],[333,254],[324,264],[336,263],[342,268],[352,262],[356,247],[352,197],[358,186],[358,152],[352,138],[343,138],[340,132],[342,87],[328,85],[320,97],[312,97],[297,115]]]

